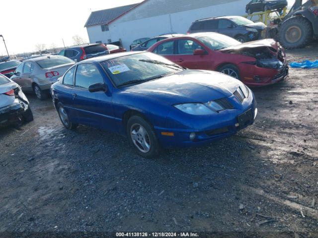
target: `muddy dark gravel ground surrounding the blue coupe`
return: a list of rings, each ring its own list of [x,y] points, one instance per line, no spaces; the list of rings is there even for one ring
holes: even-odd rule
[[[318,45],[288,51],[317,59]],[[51,100],[0,128],[0,232],[318,232],[318,69],[253,89],[258,117],[207,147],[146,160],[124,137],[66,130]],[[297,234],[295,234],[296,237]],[[298,236],[298,235],[297,235]]]

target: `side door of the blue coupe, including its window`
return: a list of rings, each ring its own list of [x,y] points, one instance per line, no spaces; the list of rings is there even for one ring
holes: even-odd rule
[[[112,94],[88,91],[95,83],[105,83],[105,79],[93,63],[81,63],[75,73],[73,106],[79,123],[116,131],[116,121],[112,106]]]

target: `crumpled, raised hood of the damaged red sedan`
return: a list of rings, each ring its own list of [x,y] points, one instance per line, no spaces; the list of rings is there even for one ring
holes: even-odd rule
[[[277,51],[278,44],[274,39],[263,39],[258,41],[250,41],[245,42],[239,45],[230,46],[224,49],[221,49],[222,52],[234,52],[234,51],[240,51],[243,49],[252,49],[252,48],[273,48]]]

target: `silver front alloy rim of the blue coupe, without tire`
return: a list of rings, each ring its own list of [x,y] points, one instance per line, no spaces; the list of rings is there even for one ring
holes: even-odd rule
[[[130,136],[134,145],[139,151],[143,153],[147,153],[150,151],[151,141],[145,127],[143,127],[139,123],[133,124],[130,128]]]

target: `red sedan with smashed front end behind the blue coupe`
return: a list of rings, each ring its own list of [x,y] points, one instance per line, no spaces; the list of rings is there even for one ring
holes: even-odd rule
[[[273,39],[240,43],[218,33],[194,33],[157,42],[153,52],[190,69],[215,70],[248,86],[263,86],[288,75],[285,50]]]

